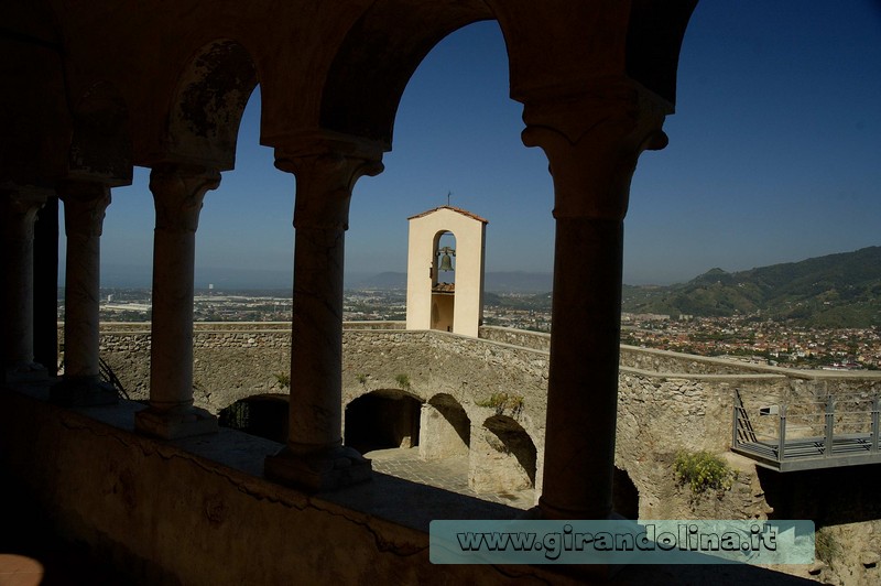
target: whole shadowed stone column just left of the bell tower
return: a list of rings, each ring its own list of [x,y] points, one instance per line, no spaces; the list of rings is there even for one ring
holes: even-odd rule
[[[296,174],[291,420],[287,445],[267,476],[308,490],[369,480],[370,462],[342,446],[342,268],[355,182],[382,171],[379,152],[316,141],[312,152],[276,150]]]

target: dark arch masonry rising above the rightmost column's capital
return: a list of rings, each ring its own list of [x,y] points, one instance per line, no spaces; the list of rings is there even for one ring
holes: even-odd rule
[[[679,47],[697,0],[561,2],[554,10],[486,1],[508,45],[513,99],[585,96],[599,78],[630,77],[675,101]]]

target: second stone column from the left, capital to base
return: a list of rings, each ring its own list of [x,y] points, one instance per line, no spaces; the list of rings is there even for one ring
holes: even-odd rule
[[[102,383],[98,362],[100,238],[110,205],[110,187],[98,182],[67,181],[58,188],[64,202],[67,262],[64,286],[64,379],[52,400],[65,405],[101,405],[117,401]]]

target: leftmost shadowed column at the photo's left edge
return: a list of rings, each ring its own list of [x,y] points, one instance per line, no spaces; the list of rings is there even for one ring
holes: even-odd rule
[[[50,192],[32,187],[0,191],[3,221],[6,303],[4,382],[46,378],[34,362],[34,223]]]

